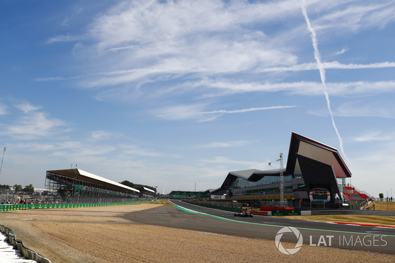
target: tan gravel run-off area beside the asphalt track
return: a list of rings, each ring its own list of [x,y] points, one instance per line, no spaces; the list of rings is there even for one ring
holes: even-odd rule
[[[53,263],[395,262],[395,255],[306,244],[296,254],[285,255],[273,240],[142,225],[121,218],[158,205],[1,212],[0,225],[13,229],[26,247]]]

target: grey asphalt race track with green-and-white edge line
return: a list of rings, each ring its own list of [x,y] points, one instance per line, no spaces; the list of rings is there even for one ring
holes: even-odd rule
[[[343,225],[284,219],[270,216],[235,217],[233,212],[206,208],[172,200],[175,205],[136,211],[124,216],[137,224],[160,225],[224,235],[275,240],[283,227],[298,229],[303,243],[395,254],[395,228]],[[194,213],[192,211],[196,211]],[[290,228],[289,228],[290,229]],[[294,232],[282,234],[281,242],[298,242]],[[275,242],[273,242],[275,245]]]

